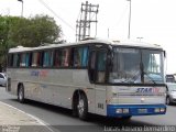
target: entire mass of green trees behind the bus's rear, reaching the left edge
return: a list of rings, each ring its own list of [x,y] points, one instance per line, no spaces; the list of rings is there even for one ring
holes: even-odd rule
[[[62,28],[48,15],[29,19],[0,15],[0,69],[6,67],[10,47],[38,46],[43,43],[56,43],[61,38]]]

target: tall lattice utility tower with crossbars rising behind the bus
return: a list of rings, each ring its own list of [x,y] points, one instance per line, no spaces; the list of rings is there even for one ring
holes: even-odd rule
[[[88,3],[88,1],[86,1],[86,3],[81,3],[80,19],[76,21],[76,41],[80,41],[90,36],[90,23],[92,22],[96,23],[96,35],[97,35],[98,8],[99,4],[91,4]]]

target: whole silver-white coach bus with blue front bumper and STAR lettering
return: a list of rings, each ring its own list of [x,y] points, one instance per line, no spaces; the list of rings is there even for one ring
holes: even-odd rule
[[[130,119],[165,114],[163,48],[155,44],[86,40],[9,51],[7,91],[73,110]]]

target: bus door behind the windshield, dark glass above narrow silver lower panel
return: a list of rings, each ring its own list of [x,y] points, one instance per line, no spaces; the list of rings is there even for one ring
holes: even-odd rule
[[[95,109],[99,114],[106,114],[107,111],[107,54],[106,48],[90,51],[89,79],[91,84],[95,84]]]

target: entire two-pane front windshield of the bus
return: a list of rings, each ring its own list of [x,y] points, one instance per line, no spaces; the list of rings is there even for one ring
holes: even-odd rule
[[[164,84],[162,51],[114,47],[109,81],[112,84]]]

